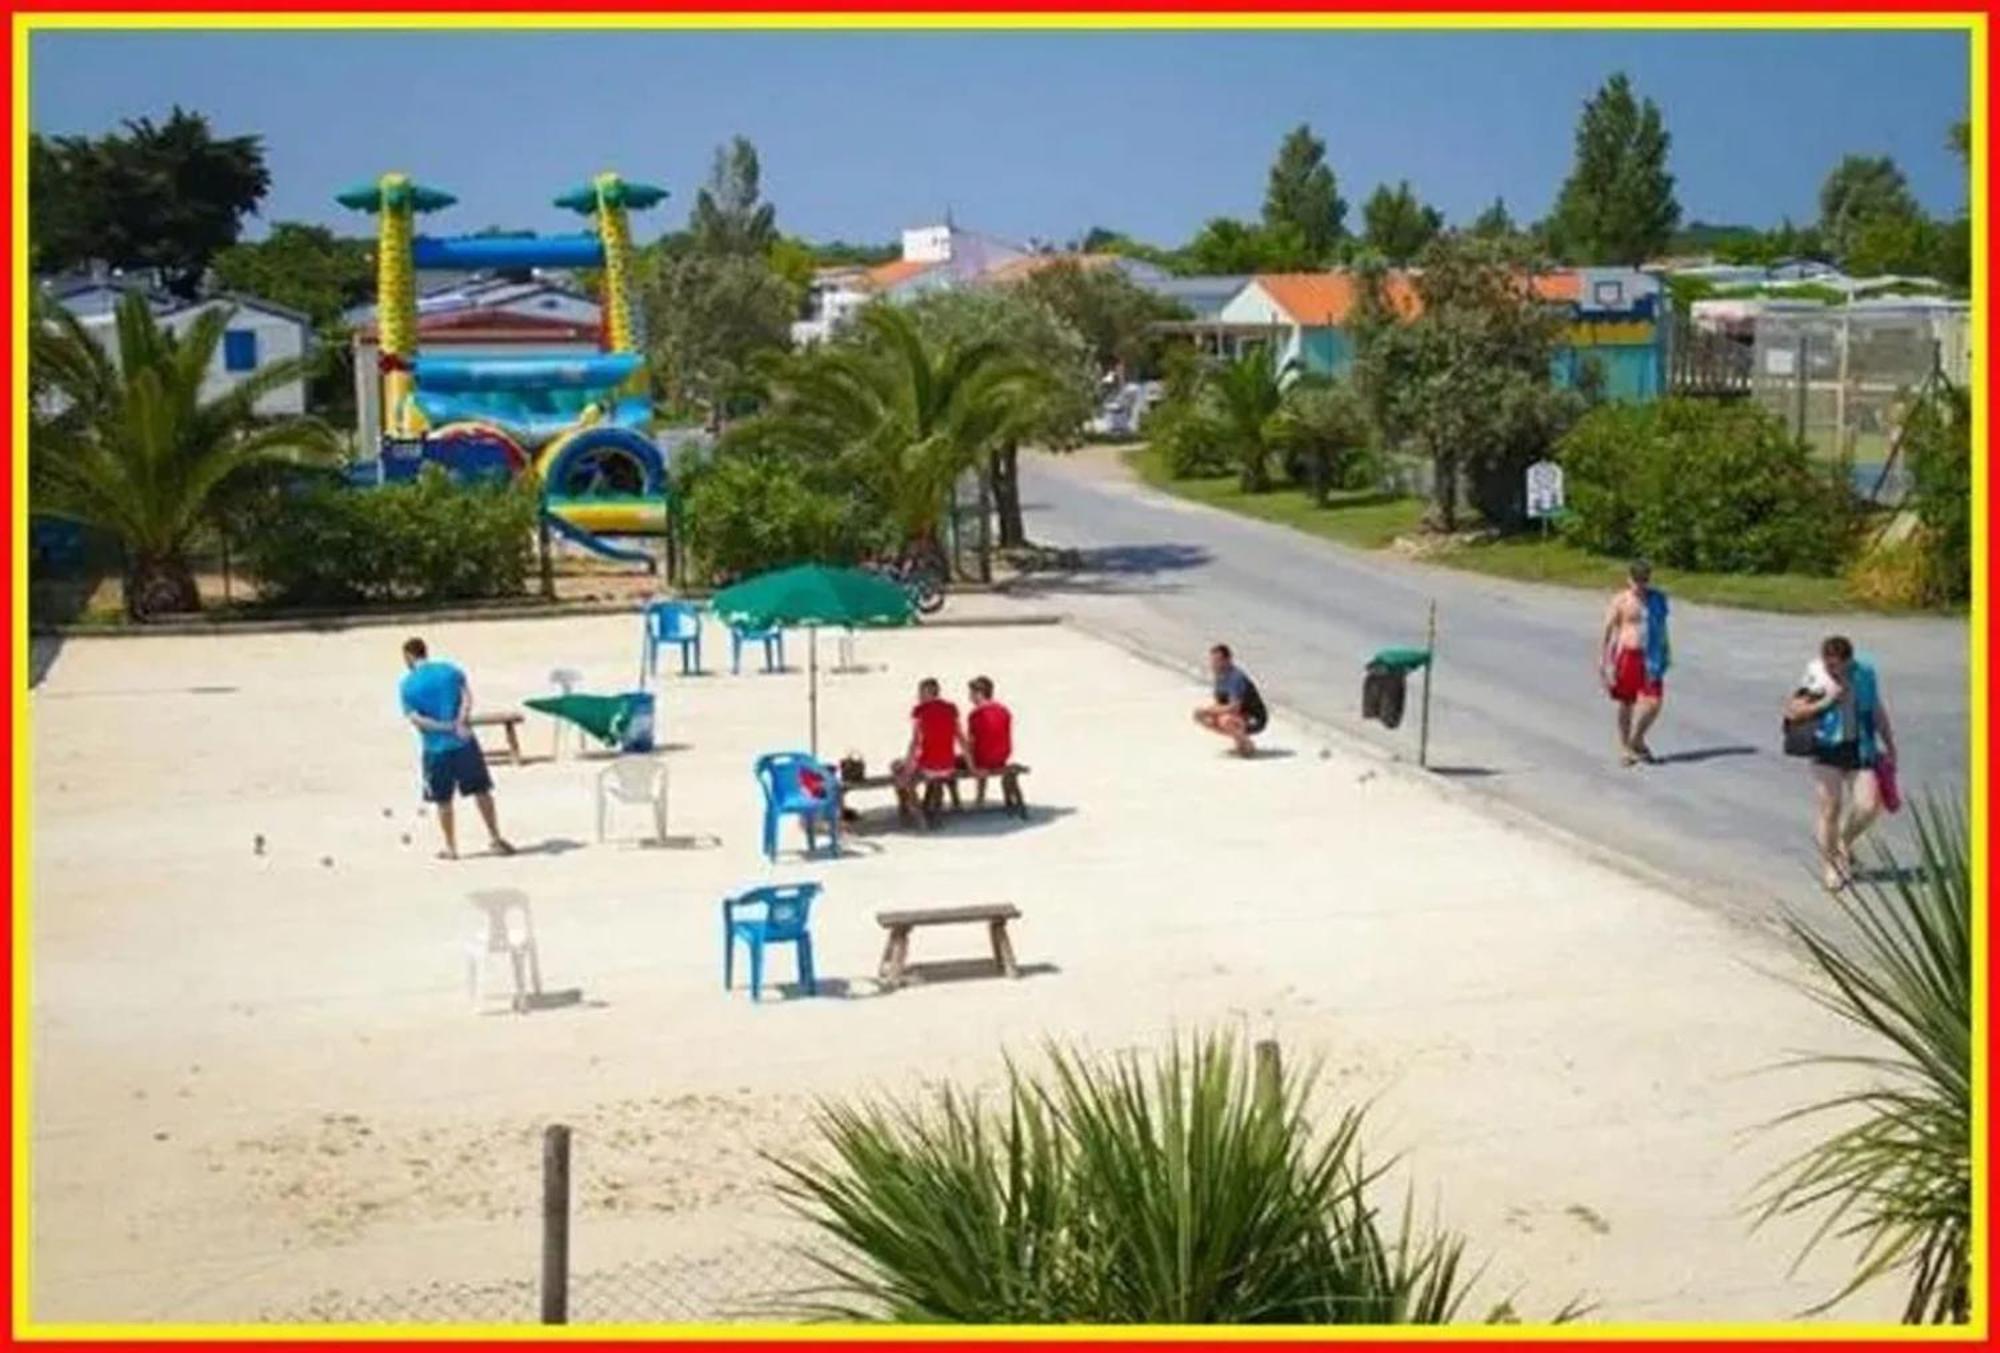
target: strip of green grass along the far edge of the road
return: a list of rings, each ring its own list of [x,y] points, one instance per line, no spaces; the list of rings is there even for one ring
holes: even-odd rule
[[[1396,536],[1416,530],[1424,516],[1420,498],[1396,498],[1382,492],[1334,494],[1326,506],[1316,506],[1302,488],[1280,486],[1270,492],[1244,492],[1236,476],[1174,478],[1160,454],[1150,446],[1124,452],[1126,464],[1146,484],[1280,526],[1292,526],[1322,540],[1380,550]],[[1612,592],[1624,584],[1626,560],[1590,554],[1560,538],[1512,536],[1490,544],[1464,544],[1426,554],[1424,562],[1466,572],[1522,582],[1552,582]],[[1712,606],[1742,606],[1746,610],[1784,610],[1820,614],[1866,610],[1848,590],[1844,578],[1820,578],[1804,572],[1690,572],[1684,568],[1654,568],[1654,580],[1682,600]]]

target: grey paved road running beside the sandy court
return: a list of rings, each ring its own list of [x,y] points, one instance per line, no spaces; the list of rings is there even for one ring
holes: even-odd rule
[[[1412,761],[1416,687],[1402,729],[1364,725],[1362,664],[1384,644],[1422,642],[1436,598],[1432,765],[1748,921],[1768,923],[1780,897],[1826,905],[1812,881],[1808,777],[1778,753],[1778,705],[1824,632],[1876,654],[1904,785],[1966,785],[1964,620],[1676,604],[1674,670],[1650,739],[1666,765],[1622,769],[1596,679],[1602,596],[1344,550],[1144,488],[1102,452],[1032,458],[1022,482],[1030,536],[1086,552],[1080,574],[1038,584],[1080,622],[1190,670],[1226,638],[1266,699]],[[1200,693],[1188,695],[1192,707]],[[1282,713],[1270,741],[1298,743]]]

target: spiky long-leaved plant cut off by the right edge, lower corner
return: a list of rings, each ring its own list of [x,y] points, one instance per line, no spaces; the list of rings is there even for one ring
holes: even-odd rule
[[[1964,1323],[1972,1309],[1972,857],[1958,807],[1912,805],[1918,867],[1880,847],[1880,869],[1834,901],[1846,933],[1790,917],[1818,981],[1814,1001],[1880,1043],[1804,1065],[1860,1071],[1868,1085],[1788,1113],[1836,1119],[1766,1181],[1758,1221],[1820,1215],[1862,1243],[1854,1277],[1824,1311],[1874,1279],[1908,1283],[1906,1323]],[[1800,1257],[1804,1257],[1804,1253]]]

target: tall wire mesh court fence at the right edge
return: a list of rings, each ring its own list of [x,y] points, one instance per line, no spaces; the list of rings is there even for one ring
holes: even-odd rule
[[[1818,308],[1756,320],[1750,398],[1784,418],[1814,454],[1854,466],[1860,492],[1900,502],[1908,474],[1898,440],[1912,402],[1934,380],[1970,370],[1966,312],[1946,308]]]

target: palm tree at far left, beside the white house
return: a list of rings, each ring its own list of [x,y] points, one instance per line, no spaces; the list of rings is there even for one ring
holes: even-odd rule
[[[256,412],[262,396],[310,374],[306,358],[272,362],[202,398],[228,322],[218,306],[176,336],[142,296],[126,296],[116,356],[62,306],[34,326],[30,366],[46,392],[30,436],[34,510],[118,536],[132,618],[200,608],[188,542],[248,472],[338,454],[316,418]]]

